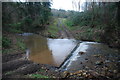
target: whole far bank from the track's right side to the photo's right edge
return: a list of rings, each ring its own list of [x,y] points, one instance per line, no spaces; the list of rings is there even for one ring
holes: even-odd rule
[[[67,19],[63,19],[63,21],[77,40],[103,42],[110,47],[120,48],[120,40],[117,35],[115,35],[115,31],[109,31],[109,33],[106,32],[105,25],[103,24],[94,27],[80,25],[74,26],[73,23]]]

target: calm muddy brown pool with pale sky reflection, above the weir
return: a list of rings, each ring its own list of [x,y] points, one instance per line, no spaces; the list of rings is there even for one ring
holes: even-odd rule
[[[28,59],[36,63],[51,64],[56,67],[64,62],[77,44],[74,39],[49,39],[39,35],[26,37]]]

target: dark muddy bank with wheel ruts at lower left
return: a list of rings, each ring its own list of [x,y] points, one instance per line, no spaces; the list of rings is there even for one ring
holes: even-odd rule
[[[25,53],[24,53],[25,54]],[[4,57],[11,57],[13,58],[14,55],[10,54],[6,54],[3,56]],[[56,68],[50,65],[43,65],[43,64],[37,64],[34,63],[28,59],[25,58],[25,56],[23,55],[21,57],[21,54],[15,54],[15,57],[17,57],[17,59],[6,59],[4,61],[3,59],[3,63],[2,63],[2,72],[3,72],[3,78],[15,78],[16,76],[18,78],[25,78],[28,77],[29,74],[32,73],[36,73],[37,71],[41,70],[42,68],[44,69],[48,69],[48,70],[55,70]],[[28,74],[28,76],[26,76]]]

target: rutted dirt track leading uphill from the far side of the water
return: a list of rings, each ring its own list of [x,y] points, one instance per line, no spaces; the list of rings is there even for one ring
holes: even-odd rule
[[[74,38],[71,32],[64,25],[62,19],[58,19],[57,27],[59,28],[59,38]]]

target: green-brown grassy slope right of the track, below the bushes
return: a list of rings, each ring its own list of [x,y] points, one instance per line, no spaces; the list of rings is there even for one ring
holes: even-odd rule
[[[101,26],[96,26],[95,28],[91,28],[90,26],[74,26],[71,21],[68,21],[65,18],[63,19],[63,22],[77,40],[101,41],[100,38],[104,32]]]

